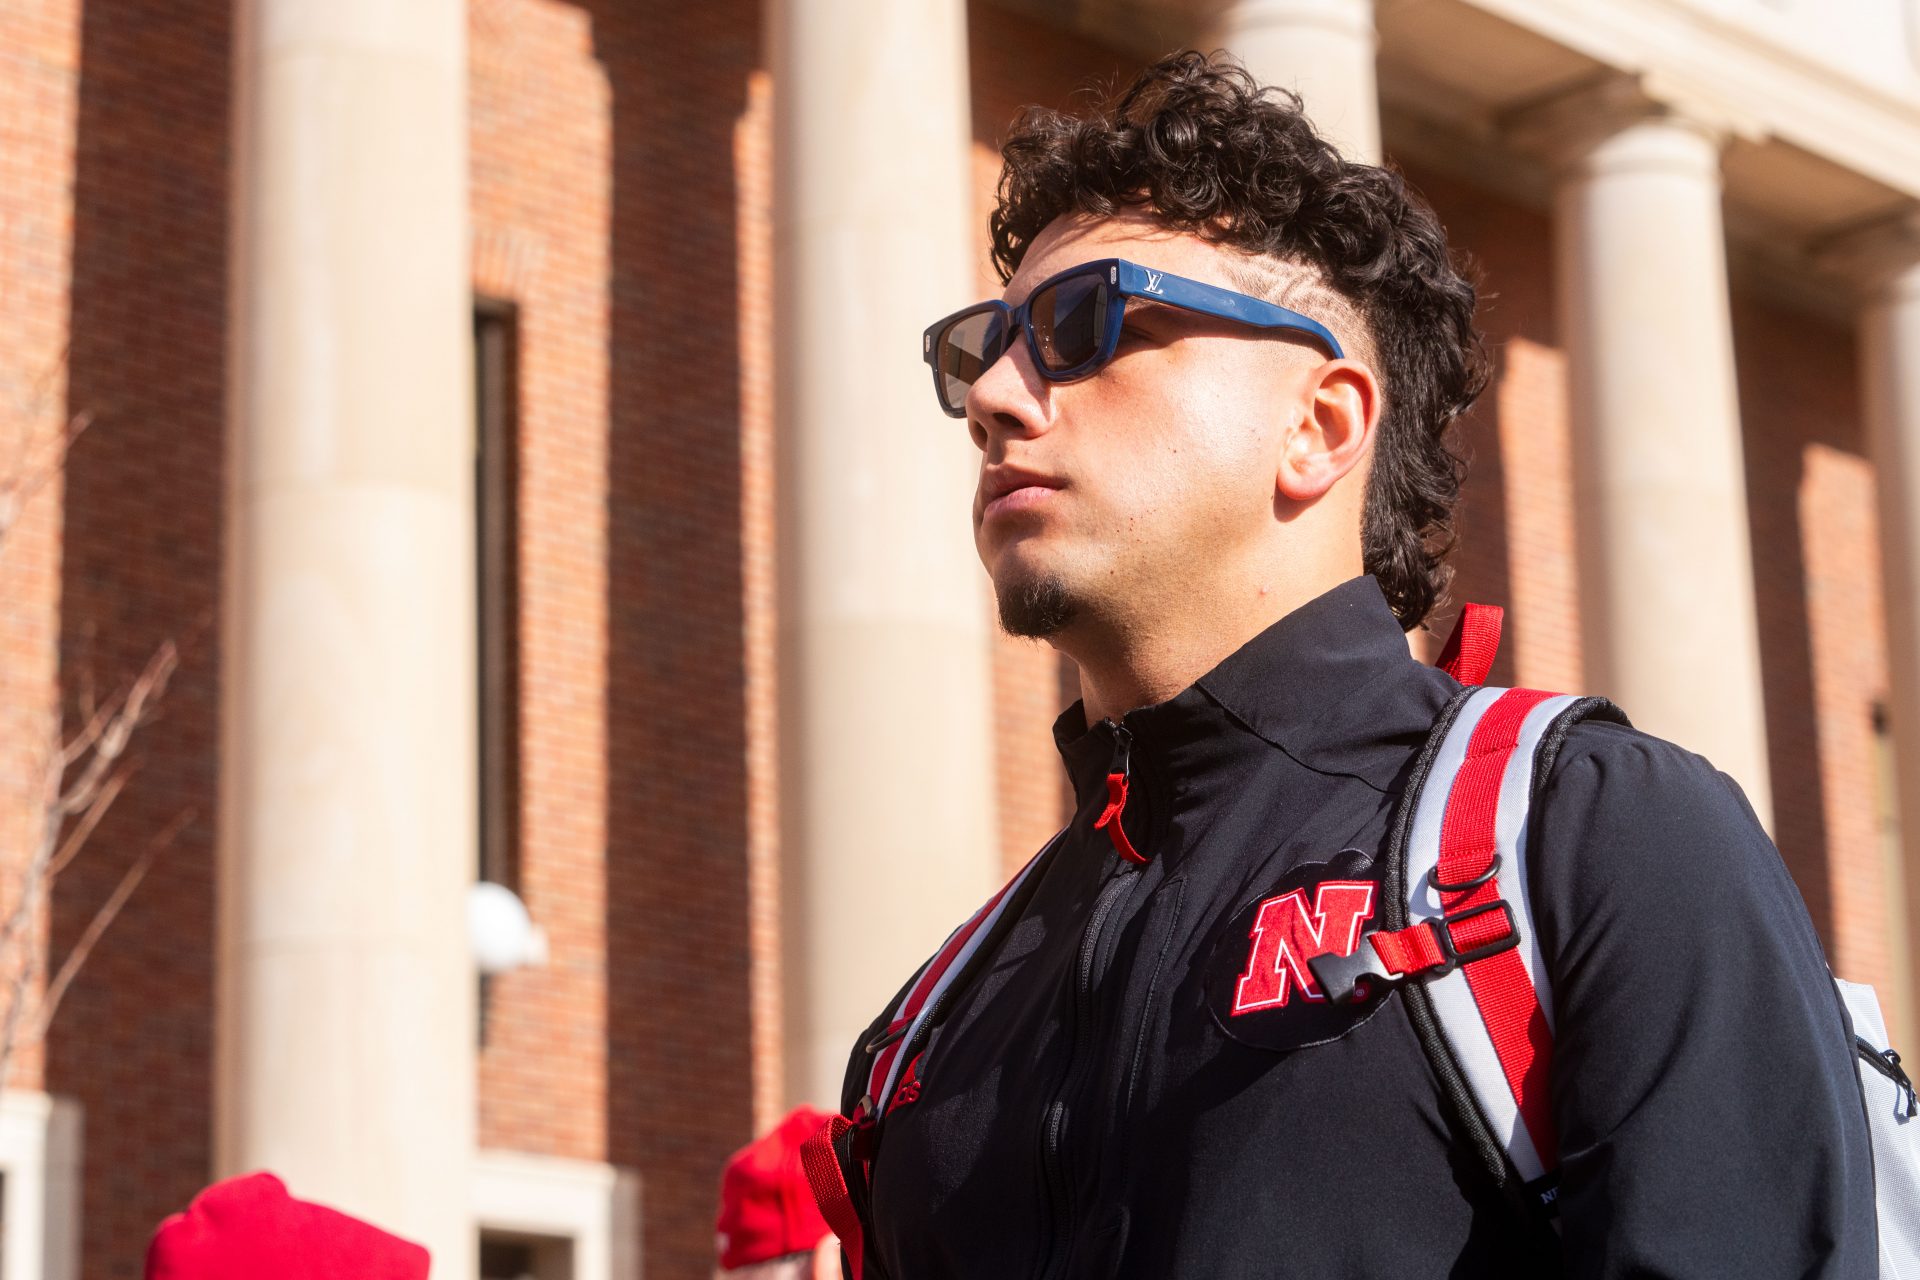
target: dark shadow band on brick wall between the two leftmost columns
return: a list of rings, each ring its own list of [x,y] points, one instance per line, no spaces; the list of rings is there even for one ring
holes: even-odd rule
[[[753,1125],[733,127],[747,0],[588,0],[612,86],[607,1159],[647,1276],[712,1268]]]

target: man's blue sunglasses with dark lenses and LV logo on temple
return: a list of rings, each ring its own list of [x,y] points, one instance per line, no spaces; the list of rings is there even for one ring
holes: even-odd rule
[[[1254,328],[1306,334],[1332,359],[1344,355],[1325,324],[1298,311],[1121,257],[1102,257],[1048,276],[1018,307],[983,301],[935,320],[922,338],[922,357],[933,367],[933,393],[941,409],[950,418],[966,416],[968,388],[1006,353],[1016,330],[1027,336],[1033,365],[1048,382],[1091,378],[1114,359],[1129,297]]]

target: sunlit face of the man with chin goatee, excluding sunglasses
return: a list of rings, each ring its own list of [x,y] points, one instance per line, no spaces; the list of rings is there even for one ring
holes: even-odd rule
[[[1002,297],[1100,257],[1240,290],[1233,249],[1169,232],[1148,215],[1062,217],[1027,251]],[[1087,618],[1204,589],[1275,522],[1284,424],[1304,411],[1306,370],[1325,357],[1231,320],[1127,303],[1119,349],[1094,376],[1048,382],[1025,342],[973,384],[981,449],[973,541],[1002,624],[1056,635]]]

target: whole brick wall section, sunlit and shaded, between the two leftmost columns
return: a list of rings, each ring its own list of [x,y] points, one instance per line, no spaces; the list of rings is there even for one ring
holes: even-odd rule
[[[758,6],[490,0],[472,40],[476,284],[520,307],[522,881],[553,940],[495,988],[482,1140],[637,1169],[647,1274],[705,1276],[720,1163],[778,1080],[753,1061],[778,1027],[753,981],[776,829]]]

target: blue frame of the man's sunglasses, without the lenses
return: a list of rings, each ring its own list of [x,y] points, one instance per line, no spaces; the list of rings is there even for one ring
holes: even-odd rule
[[[1100,342],[1094,353],[1073,365],[1069,368],[1048,368],[1046,359],[1041,353],[1041,340],[1033,332],[1033,299],[1060,284],[1062,280],[1071,280],[1075,276],[1104,276],[1106,286],[1112,290],[1112,299],[1119,305],[1106,307],[1106,328],[1100,332]],[[1119,347],[1119,330],[1127,319],[1127,299],[1142,297],[1146,301],[1165,303],[1169,307],[1179,307],[1181,311],[1194,311],[1198,315],[1210,315],[1221,320],[1233,320],[1236,324],[1248,324],[1252,328],[1267,328],[1279,332],[1306,334],[1332,359],[1342,359],[1346,353],[1340,349],[1340,342],[1332,332],[1319,320],[1300,315],[1281,307],[1279,303],[1265,301],[1263,297],[1254,297],[1250,294],[1236,294],[1235,290],[1223,290],[1217,284],[1202,284],[1200,280],[1188,280],[1187,276],[1173,276],[1164,271],[1152,271],[1140,267],[1139,263],[1129,263],[1123,257],[1100,257],[1091,263],[1079,263],[1077,267],[1068,267],[1066,271],[1046,276],[1033,292],[1027,294],[1027,301],[1018,307],[1010,307],[1000,299],[989,299],[973,303],[972,307],[962,307],[948,317],[941,317],[920,338],[920,355],[933,368],[933,395],[939,399],[941,409],[950,418],[964,418],[966,405],[947,403],[947,384],[941,372],[941,338],[958,322],[975,315],[998,315],[1000,317],[1000,349],[991,353],[981,353],[981,372],[991,368],[1008,347],[1012,347],[1012,334],[1018,328],[1027,338],[1027,351],[1033,355],[1033,367],[1048,382],[1079,382],[1081,378],[1091,378],[1096,374]],[[968,384],[972,386],[972,384]]]

